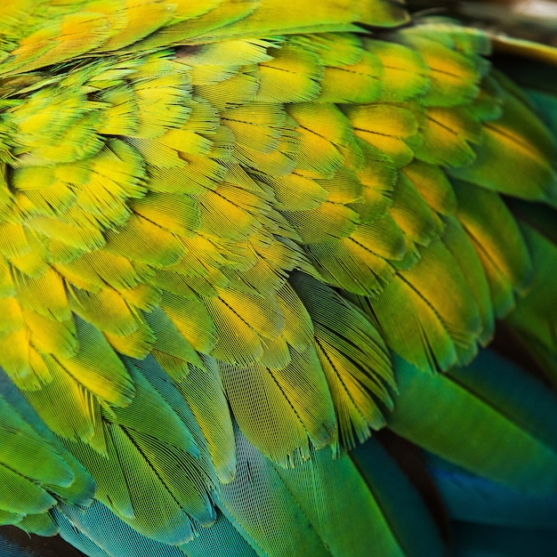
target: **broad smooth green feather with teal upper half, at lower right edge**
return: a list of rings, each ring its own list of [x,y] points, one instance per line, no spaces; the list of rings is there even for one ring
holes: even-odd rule
[[[489,352],[448,375],[426,375],[402,360],[395,374],[403,394],[387,422],[394,432],[488,480],[532,495],[553,493],[557,453],[547,424],[557,406],[543,384]],[[427,416],[421,397],[431,405]]]

